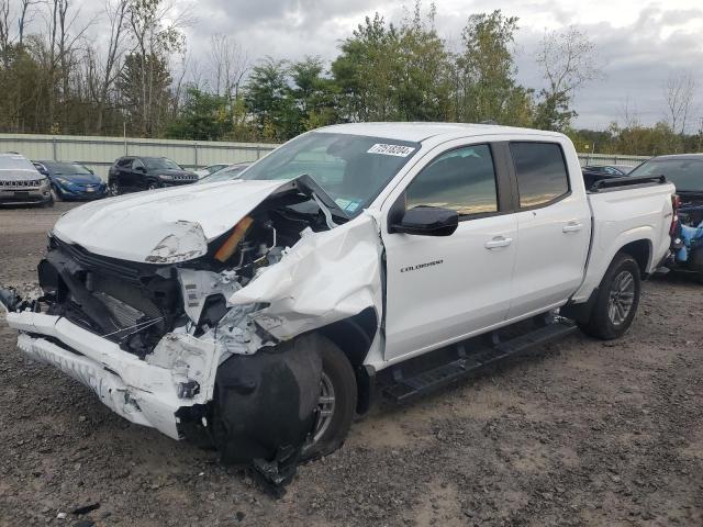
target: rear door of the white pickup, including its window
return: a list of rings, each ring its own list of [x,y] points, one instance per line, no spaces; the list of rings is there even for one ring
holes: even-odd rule
[[[591,213],[559,142],[512,142],[520,244],[509,318],[566,302],[583,280]]]

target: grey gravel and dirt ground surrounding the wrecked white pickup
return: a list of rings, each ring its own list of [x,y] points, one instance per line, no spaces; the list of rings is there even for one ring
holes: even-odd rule
[[[32,284],[66,209],[0,211],[0,281]],[[620,341],[579,335],[377,408],[281,500],[111,414],[0,322],[0,525],[701,526],[702,291],[656,279]]]

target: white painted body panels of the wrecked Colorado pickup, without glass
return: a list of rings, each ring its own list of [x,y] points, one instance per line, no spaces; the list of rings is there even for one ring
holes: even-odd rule
[[[239,289],[234,282],[234,271],[215,274],[181,269],[185,309],[192,321],[200,318],[208,294],[220,292],[228,298],[230,312],[217,328],[200,338],[187,332],[191,325],[179,328],[164,336],[154,352],[141,360],[66,318],[9,313],[8,323],[22,333],[20,347],[89,385],[118,414],[177,437],[175,413],[181,406],[212,399],[217,365],[231,354],[254,354],[276,340],[291,339],[372,307],[379,321],[386,316],[386,340],[378,332],[367,363],[382,369],[563,305],[577,290],[574,298],[584,301],[613,255],[628,242],[646,239],[651,244],[648,270],[668,251],[673,187],[587,198],[573,146],[560,134],[412,123],[339,125],[325,131],[424,141],[368,210],[326,232],[303,231],[280,260],[274,258],[245,287]],[[565,148],[572,189],[567,200],[537,211],[461,222],[449,237],[388,234],[391,206],[437,155],[457,145],[531,138],[558,142]],[[54,232],[104,256],[145,261],[152,255],[168,261],[182,257],[185,261],[267,197],[290,187],[284,181],[231,181],[144,192],[76,209]],[[584,270],[589,203],[594,232]],[[577,224],[581,228],[565,232]],[[504,242],[501,246],[487,245],[499,238]],[[388,313],[383,313],[383,251]],[[403,271],[411,267],[411,272]],[[189,290],[196,291],[192,298]],[[256,311],[261,304],[267,306]],[[255,325],[265,332],[257,332]],[[188,380],[200,384],[200,393],[181,400],[177,388]]]

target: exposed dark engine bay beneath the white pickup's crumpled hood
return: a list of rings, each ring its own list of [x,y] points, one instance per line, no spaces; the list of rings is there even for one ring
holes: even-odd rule
[[[40,264],[42,302],[47,314],[65,316],[143,359],[177,328],[196,337],[216,330],[232,294],[277,264],[303,231],[327,229],[317,205],[309,203],[297,194],[267,201],[210,243],[204,256],[179,264],[100,257],[51,236]]]

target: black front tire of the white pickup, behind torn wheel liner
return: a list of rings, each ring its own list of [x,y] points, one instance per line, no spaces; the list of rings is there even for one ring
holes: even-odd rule
[[[321,337],[321,340],[324,343],[321,348],[323,374],[321,397],[327,381],[334,390],[334,407],[324,430],[317,429],[321,424],[320,421],[317,422],[312,441],[303,448],[304,461],[327,456],[341,448],[356,413],[357,385],[352,363],[334,343],[325,337]],[[315,437],[317,433],[320,435]]]

